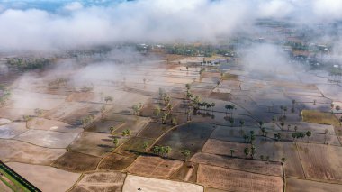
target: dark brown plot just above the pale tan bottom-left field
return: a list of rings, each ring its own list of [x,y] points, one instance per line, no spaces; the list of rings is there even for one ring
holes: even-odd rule
[[[54,161],[52,166],[73,172],[84,172],[96,169],[100,160],[101,158],[92,155],[68,151],[58,158],[58,160]]]

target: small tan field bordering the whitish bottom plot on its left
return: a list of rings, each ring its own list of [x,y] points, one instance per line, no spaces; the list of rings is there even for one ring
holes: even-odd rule
[[[71,191],[112,191],[121,192],[125,173],[121,172],[94,172],[86,173]]]

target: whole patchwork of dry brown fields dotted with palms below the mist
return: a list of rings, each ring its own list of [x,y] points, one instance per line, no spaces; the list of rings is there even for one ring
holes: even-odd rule
[[[49,71],[14,81],[0,105],[0,160],[42,191],[342,189],[332,85],[186,60],[119,65],[91,84],[51,86]],[[210,105],[193,109],[185,85]]]

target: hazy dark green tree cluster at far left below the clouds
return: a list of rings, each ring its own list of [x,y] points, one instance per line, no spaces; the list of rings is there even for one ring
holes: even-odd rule
[[[53,61],[46,58],[11,58],[7,59],[7,64],[20,69],[42,69]]]

